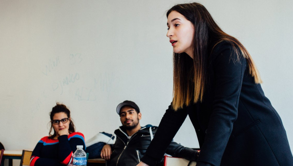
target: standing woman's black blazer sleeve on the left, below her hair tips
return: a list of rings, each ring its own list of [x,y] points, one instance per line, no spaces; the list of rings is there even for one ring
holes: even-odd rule
[[[169,105],[164,114],[160,125],[155,133],[153,140],[146,150],[146,154],[141,161],[149,166],[155,166],[157,162],[161,161],[167,147],[170,145],[172,139],[183,124],[187,117],[187,110],[180,109],[174,111]]]

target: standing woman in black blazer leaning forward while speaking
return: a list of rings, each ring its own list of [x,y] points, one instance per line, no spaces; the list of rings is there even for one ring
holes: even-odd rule
[[[189,116],[196,166],[293,166],[282,121],[261,88],[246,48],[199,3],[167,11],[173,46],[173,101],[138,166],[154,166]]]

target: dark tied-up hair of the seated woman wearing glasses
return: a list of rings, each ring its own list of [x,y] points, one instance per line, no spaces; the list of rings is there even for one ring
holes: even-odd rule
[[[51,119],[51,127],[50,127],[50,131],[49,131],[49,138],[50,139],[54,139],[56,137],[56,135],[57,135],[56,131],[55,131],[54,127],[53,127],[53,122],[52,121],[53,121],[54,115],[56,113],[60,113],[60,112],[64,112],[67,115],[67,117],[70,118],[70,111],[66,107],[66,105],[56,103],[56,105],[52,108],[52,111],[49,113],[50,119]],[[60,122],[60,123],[62,123],[62,122]],[[51,134],[52,129],[54,130],[53,135]],[[72,120],[70,120],[68,132],[69,133],[75,132],[75,126],[74,126]]]

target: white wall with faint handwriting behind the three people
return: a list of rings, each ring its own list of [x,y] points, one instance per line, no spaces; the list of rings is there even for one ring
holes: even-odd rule
[[[141,125],[158,125],[172,99],[165,13],[182,2],[0,0],[0,142],[34,148],[56,102],[86,140],[121,125],[115,108],[124,100],[139,105]],[[251,53],[292,147],[293,1],[198,2]],[[199,146],[189,119],[174,140]]]

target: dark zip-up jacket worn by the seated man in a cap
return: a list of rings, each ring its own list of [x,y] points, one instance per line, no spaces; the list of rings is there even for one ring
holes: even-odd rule
[[[120,126],[114,132],[117,138],[115,144],[111,145],[111,160],[107,162],[107,166],[136,166],[145,155],[157,128],[157,126],[146,125],[128,139],[125,127]],[[196,150],[175,142],[171,142],[166,151],[168,155],[182,157],[190,161],[196,161],[196,152]],[[163,159],[160,164],[162,163]]]

